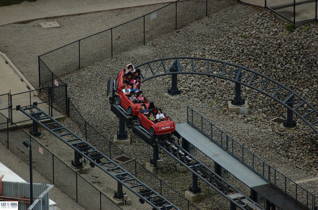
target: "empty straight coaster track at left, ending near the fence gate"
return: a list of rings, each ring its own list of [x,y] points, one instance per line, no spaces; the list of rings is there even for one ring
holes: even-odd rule
[[[70,146],[76,153],[78,153],[78,155],[85,157],[95,166],[102,169],[113,179],[115,179],[120,184],[128,188],[131,192],[136,194],[140,199],[146,201],[154,209],[179,209],[169,200],[165,199],[156,191],[137,179],[134,175],[130,174],[112,159],[101,153],[99,150],[97,150],[85,140],[80,138],[78,135],[73,133],[71,130],[66,128],[59,121],[46,114],[36,105],[32,105],[27,108],[20,108],[20,106],[17,106],[17,110],[20,110],[22,113],[30,117],[33,121],[36,121],[38,125],[41,125],[43,128],[45,128],[61,141]],[[28,113],[26,110],[30,111],[31,114]],[[39,117],[35,118],[35,115]],[[52,122],[46,124],[40,122],[47,119],[50,119]],[[49,128],[52,127],[52,125],[54,125],[54,127]]]

